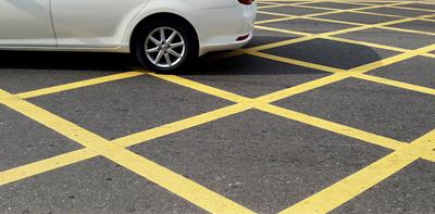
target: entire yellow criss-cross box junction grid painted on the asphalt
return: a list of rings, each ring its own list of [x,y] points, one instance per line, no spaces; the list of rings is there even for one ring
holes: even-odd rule
[[[296,3],[295,3],[296,2]],[[296,5],[296,7],[301,7],[301,8],[318,8],[318,7],[308,7],[303,5],[307,2],[297,2],[297,1],[288,1],[288,0],[273,0],[273,1],[265,1],[265,3],[269,3],[270,5],[264,5],[262,8],[277,8],[277,7],[284,7],[284,5]],[[312,2],[326,2],[325,1],[312,1]],[[334,2],[343,2],[343,1],[334,1]],[[347,10],[335,10],[335,9],[325,9],[330,10],[324,13],[316,13],[316,14],[309,14],[309,15],[302,15],[302,16],[290,16],[286,14],[275,14],[275,15],[281,15],[284,17],[279,18],[274,18],[271,21],[264,21],[260,23],[268,23],[268,22],[277,22],[277,21],[285,21],[285,20],[293,20],[293,18],[311,18],[311,20],[318,20],[318,21],[323,21],[325,22],[324,18],[318,18],[318,17],[312,17],[315,15],[321,15],[321,14],[334,14],[334,13],[340,13],[340,12],[358,12],[358,13],[366,13],[369,12],[362,12],[360,10],[365,10],[365,9],[371,9],[371,8],[383,8],[383,7],[390,7],[390,8],[403,8],[401,7],[402,4],[406,3],[411,3],[412,1],[407,1],[407,2],[391,2],[391,1],[386,1],[388,4],[386,5],[373,5],[370,3],[355,3],[353,4],[361,4],[361,5],[366,5],[363,8],[358,8],[358,9],[347,9]],[[346,2],[349,3],[349,2]],[[409,8],[403,8],[403,9],[409,9]],[[412,10],[412,9],[409,9]],[[414,10],[420,10],[420,9],[414,9]],[[427,10],[420,10],[420,11],[427,11]],[[435,11],[432,11],[435,12]],[[268,13],[268,12],[266,12]],[[271,13],[272,14],[272,13]],[[387,15],[386,15],[387,16]],[[389,15],[390,16],[390,15]],[[365,142],[370,142],[373,144],[377,144],[384,148],[388,148],[394,150],[393,153],[388,154],[387,156],[372,163],[371,165],[366,166],[365,168],[362,168],[361,171],[346,177],[345,179],[336,182],[335,185],[318,192],[316,194],[302,200],[301,202],[295,204],[294,206],[290,206],[289,209],[286,209],[282,213],[326,213],[328,211],[332,211],[333,209],[339,206],[343,203],[346,203],[348,200],[357,197],[358,194],[362,193],[366,189],[373,187],[374,185],[378,184],[380,181],[386,179],[387,177],[394,175],[395,173],[399,172],[407,165],[411,164],[418,159],[425,159],[428,161],[435,162],[435,130],[431,131],[430,134],[421,137],[420,139],[411,142],[411,143],[406,143],[401,141],[397,141],[394,139],[389,139],[383,136],[378,136],[375,134],[366,133],[363,130],[359,130],[352,127],[344,126],[340,124],[336,124],[333,122],[328,122],[322,118],[313,117],[310,115],[306,115],[299,112],[295,112],[291,110],[278,108],[275,105],[272,105],[270,103],[282,100],[295,95],[299,95],[309,90],[313,90],[315,88],[320,88],[323,86],[326,86],[328,84],[333,84],[346,78],[359,78],[359,79],[364,79],[377,84],[383,84],[383,85],[388,85],[388,86],[394,86],[398,88],[403,88],[408,90],[413,90],[413,91],[419,91],[419,92],[424,92],[428,95],[435,95],[435,89],[433,88],[427,88],[427,87],[421,87],[412,84],[407,84],[407,83],[401,83],[397,80],[391,80],[387,78],[382,78],[382,77],[376,77],[376,76],[371,76],[366,75],[364,73],[375,70],[377,67],[382,67],[388,64],[393,64],[396,62],[403,61],[406,59],[413,58],[415,55],[425,55],[425,56],[432,56],[434,58],[435,54],[427,53],[430,51],[435,50],[435,45],[427,46],[418,50],[407,50],[407,49],[400,49],[400,48],[395,48],[395,47],[388,47],[388,46],[383,46],[383,45],[375,45],[375,43],[370,43],[370,42],[362,42],[362,41],[353,41],[349,39],[340,39],[340,38],[334,38],[332,36],[338,35],[338,34],[344,34],[348,32],[356,32],[356,30],[361,30],[361,29],[368,29],[372,27],[378,27],[378,28],[388,28],[388,29],[397,29],[394,27],[388,27],[384,25],[391,25],[391,24],[398,24],[398,23],[403,23],[403,22],[409,22],[413,20],[424,20],[426,17],[433,17],[435,15],[422,15],[418,17],[405,17],[398,21],[391,21],[391,22],[386,22],[386,23],[381,23],[381,24],[374,24],[374,25],[362,25],[358,23],[350,23],[350,22],[341,22],[341,21],[326,21],[326,22],[341,22],[346,24],[353,24],[357,25],[357,27],[348,28],[348,29],[341,29],[341,30],[336,30],[332,33],[325,33],[325,34],[319,34],[319,35],[313,35],[313,34],[308,34],[308,33],[299,33],[299,32],[293,32],[293,30],[287,30],[287,29],[278,29],[278,28],[271,28],[271,27],[264,27],[264,26],[257,26],[258,28],[262,28],[265,30],[274,30],[274,32],[282,32],[282,33],[287,33],[287,34],[297,34],[301,35],[303,37],[297,38],[297,39],[290,39],[286,41],[281,41],[281,42],[274,42],[270,45],[264,45],[260,47],[254,47],[250,49],[245,49],[245,50],[238,50],[233,53],[229,53],[228,56],[233,55],[238,55],[238,54],[252,54],[257,55],[260,58],[264,59],[270,59],[274,61],[279,61],[279,62],[285,62],[288,64],[296,64],[300,66],[306,66],[310,68],[315,68],[315,70],[321,70],[325,72],[333,73],[332,75],[323,78],[319,78],[309,83],[301,84],[299,86],[295,86],[288,89],[284,89],[281,91],[276,91],[266,96],[262,96],[257,99],[250,99],[250,98],[245,98],[243,96],[238,96],[228,91],[224,91],[217,88],[213,88],[207,85],[202,85],[196,81],[191,81],[178,76],[172,76],[172,75],[158,75],[158,74],[152,74],[152,73],[146,73],[142,71],[135,71],[135,72],[127,72],[127,73],[121,73],[121,74],[115,74],[115,75],[110,75],[105,77],[98,77],[94,79],[88,79],[88,80],[83,80],[83,81],[77,81],[77,83],[72,83],[72,84],[66,84],[66,85],[61,85],[61,86],[54,86],[54,87],[49,87],[45,89],[38,89],[34,91],[28,91],[24,93],[18,93],[18,95],[10,95],[7,91],[3,91],[0,89],[0,104],[5,104],[7,106],[35,119],[36,122],[39,122],[47,127],[64,135],[65,137],[77,141],[78,143],[85,146],[85,149],[76,150],[73,152],[64,153],[54,158],[50,158],[47,160],[42,160],[39,162],[30,163],[24,166],[15,167],[12,169],[8,169],[4,172],[0,172],[0,186],[10,184],[13,181],[17,181],[27,177],[32,177],[34,175],[40,174],[40,173],[46,173],[49,171],[53,171],[73,163],[82,162],[95,156],[102,155],[133,172],[136,174],[162,186],[163,188],[167,189],[171,192],[174,192],[175,194],[190,201],[191,203],[198,205],[199,207],[202,207],[209,212],[212,213],[252,213],[252,211],[207,189],[206,187],[202,187],[201,185],[198,185],[144,156],[140,156],[138,154],[135,154],[134,152],[130,152],[129,150],[125,149],[127,147],[142,143],[148,140],[152,140],[159,137],[163,137],[176,131],[185,130],[195,126],[199,126],[204,123],[209,123],[222,117],[229,116],[232,114],[237,114],[250,109],[258,109],[264,112],[269,112],[275,115],[279,115],[289,119],[298,121],[300,123],[304,123],[314,127],[319,127],[322,129],[326,129],[339,135],[348,136],[351,138],[356,138],[359,140],[363,140]],[[411,33],[419,33],[419,34],[427,34],[427,35],[435,35],[432,33],[424,33],[424,32],[418,32],[418,30],[408,30],[408,29],[397,29],[401,32],[411,32]],[[296,43],[296,42],[301,42],[301,41],[307,41],[315,38],[325,38],[325,39],[331,39],[331,40],[338,40],[338,41],[344,41],[344,42],[349,42],[349,43],[357,43],[357,45],[363,45],[363,46],[369,46],[369,47],[374,47],[374,48],[384,48],[387,50],[395,50],[398,52],[402,52],[401,54],[380,60],[377,62],[369,63],[366,65],[362,65],[360,67],[356,67],[353,70],[345,71],[345,70],[339,70],[335,67],[328,67],[324,65],[319,65],[314,63],[308,63],[303,61],[298,61],[298,60],[293,60],[288,58],[282,58],[282,56],[276,56],[272,54],[266,54],[259,52],[261,50],[266,50],[270,48],[276,48],[276,47],[282,47],[290,43]],[[86,130],[66,119],[63,119],[44,109],[40,109],[23,99],[27,98],[34,98],[34,97],[39,97],[39,96],[46,96],[46,95],[51,95],[55,92],[61,92],[65,90],[73,90],[76,88],[82,88],[82,87],[87,87],[87,86],[92,86],[97,84],[103,84],[103,83],[109,83],[109,81],[114,81],[119,79],[124,79],[124,78],[130,78],[130,77],[136,77],[140,75],[151,75],[158,78],[162,78],[178,85],[182,85],[184,87],[192,88],[195,90],[209,93],[215,97],[220,97],[233,102],[236,102],[236,104],[222,108],[215,111],[211,111],[204,114],[200,114],[197,116],[192,116],[186,119],[182,119],[178,122],[174,122],[171,124],[166,124],[157,128],[152,128],[149,130],[145,130],[138,134],[134,134],[130,136],[122,137],[112,141],[105,140],[101,138],[100,136]]]

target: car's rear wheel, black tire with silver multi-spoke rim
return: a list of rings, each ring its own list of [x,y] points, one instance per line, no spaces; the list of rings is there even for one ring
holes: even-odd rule
[[[191,26],[175,18],[147,22],[136,37],[139,62],[157,73],[178,73],[198,58],[198,42]]]

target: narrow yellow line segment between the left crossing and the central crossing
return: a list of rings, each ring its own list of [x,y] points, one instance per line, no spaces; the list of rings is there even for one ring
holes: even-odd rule
[[[122,137],[113,140],[113,143],[120,144],[122,147],[130,147],[137,143],[141,143],[144,141],[157,139],[159,137],[163,137],[173,133],[177,133],[181,130],[185,130],[195,126],[199,126],[201,124],[206,124],[212,121],[216,121],[219,118],[223,118],[233,114],[237,114],[244,111],[251,109],[250,106],[244,104],[234,104],[227,108],[222,108],[212,112],[203,113],[197,116],[192,116],[190,118],[182,119],[178,122],[174,122],[167,125],[163,125],[158,128],[152,128],[149,130],[140,131],[137,134],[133,134],[126,137]]]

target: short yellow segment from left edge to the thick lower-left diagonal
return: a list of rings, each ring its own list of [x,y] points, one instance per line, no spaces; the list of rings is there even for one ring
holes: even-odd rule
[[[61,168],[63,166],[78,163],[98,154],[89,149],[80,149],[27,165],[23,165],[16,168],[0,172],[0,186],[11,184],[17,180],[22,180],[38,174],[42,174],[49,171]]]

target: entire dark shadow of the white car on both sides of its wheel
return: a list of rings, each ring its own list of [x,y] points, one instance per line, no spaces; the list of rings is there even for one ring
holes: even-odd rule
[[[253,43],[268,37],[254,37]],[[281,38],[282,39],[282,38]],[[216,58],[231,51],[208,53],[183,71],[184,75],[299,75],[324,73],[319,70],[293,65],[264,58],[243,54],[227,59]],[[394,55],[365,46],[350,48],[338,42],[316,40],[265,50],[265,53],[331,67],[348,70]],[[28,52],[0,51],[0,72],[16,70],[74,70],[74,71],[124,71],[140,66],[132,54],[91,52]],[[380,62],[382,63],[382,62]]]

